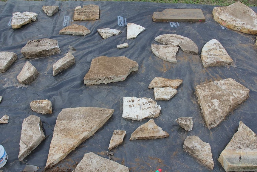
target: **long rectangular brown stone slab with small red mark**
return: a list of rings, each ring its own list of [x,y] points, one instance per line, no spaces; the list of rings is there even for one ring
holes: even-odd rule
[[[201,9],[172,9],[154,12],[154,22],[205,22]]]

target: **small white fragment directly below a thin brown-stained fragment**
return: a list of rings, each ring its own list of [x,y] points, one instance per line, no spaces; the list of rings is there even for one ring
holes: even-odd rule
[[[177,94],[177,90],[171,87],[154,88],[154,99],[155,100],[170,100],[174,95]]]

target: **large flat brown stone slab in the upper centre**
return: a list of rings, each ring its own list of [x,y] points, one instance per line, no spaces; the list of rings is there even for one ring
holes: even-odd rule
[[[138,71],[137,62],[125,56],[100,56],[92,60],[89,71],[84,77],[84,84],[94,85],[123,81],[133,71]]]

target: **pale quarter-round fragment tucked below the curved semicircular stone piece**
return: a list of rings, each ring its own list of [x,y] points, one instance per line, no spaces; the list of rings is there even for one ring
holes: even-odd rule
[[[179,51],[177,46],[152,44],[151,49],[160,59],[171,63],[177,63],[176,54]]]

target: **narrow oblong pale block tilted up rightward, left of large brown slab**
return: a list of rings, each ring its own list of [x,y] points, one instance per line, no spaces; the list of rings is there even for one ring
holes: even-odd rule
[[[71,53],[67,53],[66,56],[53,64],[53,76],[69,68],[73,64],[75,64],[75,57]]]

